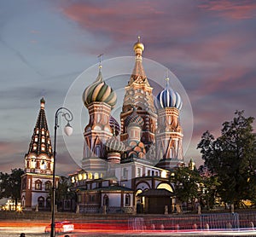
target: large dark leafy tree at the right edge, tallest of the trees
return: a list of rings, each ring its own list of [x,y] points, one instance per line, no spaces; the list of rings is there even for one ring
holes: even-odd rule
[[[256,136],[254,118],[245,118],[243,111],[235,115],[230,122],[224,122],[217,139],[206,131],[197,148],[212,176],[218,177],[220,197],[237,207],[243,199],[255,199]]]

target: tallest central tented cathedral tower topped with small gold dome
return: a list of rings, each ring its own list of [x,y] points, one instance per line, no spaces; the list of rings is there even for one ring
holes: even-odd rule
[[[154,144],[154,133],[156,130],[157,114],[154,108],[153,88],[148,83],[148,78],[143,68],[144,45],[138,38],[134,44],[135,66],[131,74],[130,81],[125,87],[125,97],[120,113],[121,133],[120,140],[128,140],[127,126],[125,120],[131,115],[133,107],[136,107],[137,114],[143,119],[141,142],[144,143],[146,150]]]

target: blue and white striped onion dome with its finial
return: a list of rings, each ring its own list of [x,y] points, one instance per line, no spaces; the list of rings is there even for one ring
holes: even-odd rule
[[[169,78],[166,78],[166,89],[160,91],[154,98],[154,106],[157,109],[176,107],[178,110],[183,107],[183,101],[181,100],[180,95],[170,87]]]

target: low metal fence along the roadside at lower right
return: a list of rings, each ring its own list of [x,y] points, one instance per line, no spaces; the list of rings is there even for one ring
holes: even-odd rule
[[[167,217],[133,217],[128,220],[128,229],[254,229],[256,212],[211,213],[201,215],[177,215]]]

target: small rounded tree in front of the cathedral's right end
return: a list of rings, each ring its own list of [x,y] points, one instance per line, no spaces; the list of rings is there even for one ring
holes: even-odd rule
[[[198,171],[189,167],[178,167],[170,178],[174,185],[175,194],[178,200],[183,203],[194,205],[195,199],[199,198],[199,185],[201,176]]]

